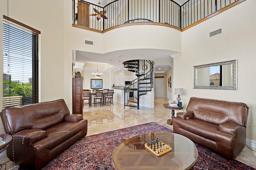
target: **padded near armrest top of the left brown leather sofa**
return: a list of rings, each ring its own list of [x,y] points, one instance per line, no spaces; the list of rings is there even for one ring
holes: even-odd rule
[[[31,146],[32,143],[44,138],[45,131],[40,129],[26,129],[12,135],[14,142],[27,144],[29,146]]]

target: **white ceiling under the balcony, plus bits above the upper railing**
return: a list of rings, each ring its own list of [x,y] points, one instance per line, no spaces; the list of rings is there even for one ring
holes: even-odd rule
[[[105,6],[106,4],[112,2],[113,0],[86,0],[93,4],[98,4],[99,6]],[[178,4],[182,5],[187,0],[174,0]],[[86,51],[76,51],[76,59],[74,69],[95,71],[97,67],[94,68],[87,67],[92,65],[92,63],[99,64],[99,71],[101,72],[119,72],[127,71],[124,68],[122,62],[132,59],[148,59],[154,61],[155,63],[155,73],[167,73],[173,66],[173,58],[170,55],[177,53],[171,50],[160,50],[160,49],[126,49],[120,51],[112,51],[109,53],[99,54],[90,53]],[[90,64],[88,64],[90,63]]]

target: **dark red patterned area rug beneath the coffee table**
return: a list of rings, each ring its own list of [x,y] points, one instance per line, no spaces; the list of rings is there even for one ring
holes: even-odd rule
[[[91,136],[85,136],[57,156],[43,170],[111,170],[112,154],[125,140],[148,132],[172,132],[158,123],[146,123]],[[228,160],[212,150],[196,144],[198,160],[193,170],[255,170],[237,160]]]

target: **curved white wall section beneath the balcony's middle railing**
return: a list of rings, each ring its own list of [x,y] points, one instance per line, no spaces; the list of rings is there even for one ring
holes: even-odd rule
[[[103,44],[104,52],[140,48],[181,51],[181,32],[156,25],[126,26],[104,33]]]

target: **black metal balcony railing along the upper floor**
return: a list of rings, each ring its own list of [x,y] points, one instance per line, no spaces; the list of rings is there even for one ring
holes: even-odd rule
[[[104,7],[72,0],[73,24],[95,30],[131,23],[158,22],[186,28],[239,0],[188,0],[179,5],[173,0],[114,0]]]

